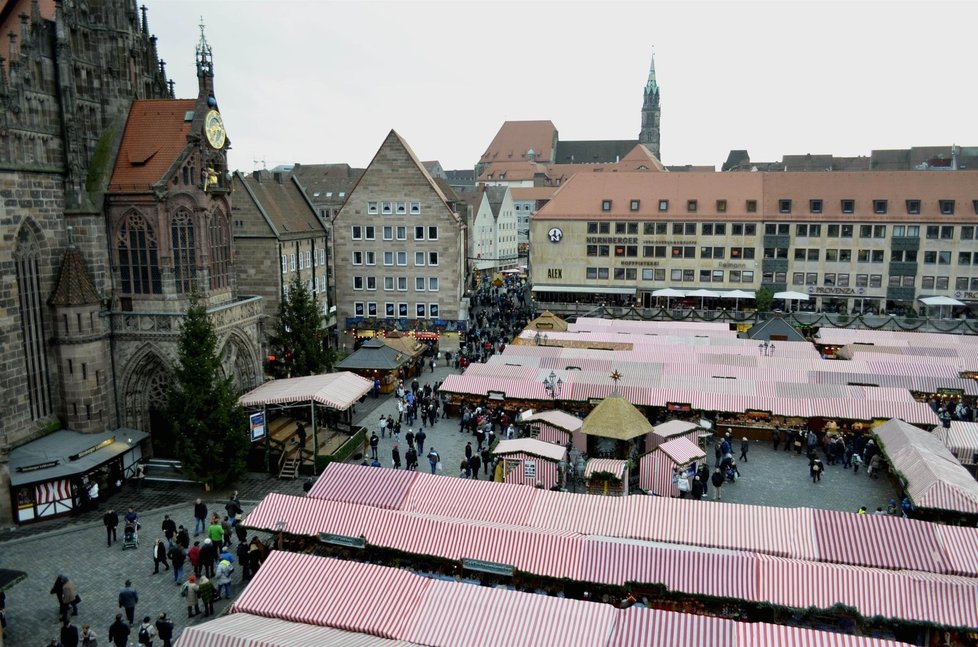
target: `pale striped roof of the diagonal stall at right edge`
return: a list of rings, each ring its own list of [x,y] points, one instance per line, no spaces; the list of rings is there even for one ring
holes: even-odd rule
[[[939,438],[895,419],[873,434],[914,505],[978,514],[978,482]]]

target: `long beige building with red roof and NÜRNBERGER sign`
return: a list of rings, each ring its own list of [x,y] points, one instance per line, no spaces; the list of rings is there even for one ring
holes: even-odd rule
[[[794,290],[813,309],[978,304],[978,173],[578,174],[531,220],[545,303]]]

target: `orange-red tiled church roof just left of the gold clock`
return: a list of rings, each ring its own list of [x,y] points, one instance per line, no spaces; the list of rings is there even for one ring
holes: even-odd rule
[[[194,99],[146,99],[133,101],[126,131],[116,157],[109,191],[148,191],[163,179],[187,145]]]

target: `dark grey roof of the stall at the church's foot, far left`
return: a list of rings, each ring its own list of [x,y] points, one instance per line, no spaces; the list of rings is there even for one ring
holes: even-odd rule
[[[66,429],[52,432],[10,452],[10,485],[85,474],[125,454],[146,438],[149,438],[146,432],[125,427],[96,434]],[[46,467],[32,469],[42,465]]]

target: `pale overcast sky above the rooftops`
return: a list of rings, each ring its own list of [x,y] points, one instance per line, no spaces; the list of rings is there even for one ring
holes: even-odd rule
[[[637,139],[653,48],[666,164],[978,145],[969,0],[145,4],[180,98],[203,16],[242,171],[365,166],[392,128],[445,168],[471,168],[506,120]]]

